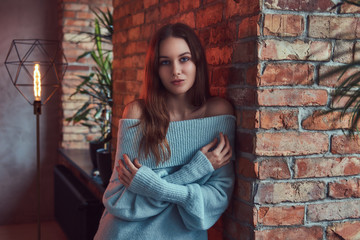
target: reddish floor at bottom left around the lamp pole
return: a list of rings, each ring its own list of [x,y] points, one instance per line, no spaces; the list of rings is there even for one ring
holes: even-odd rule
[[[0,225],[1,240],[37,240],[37,223]],[[41,240],[67,240],[57,222],[41,223]]]

